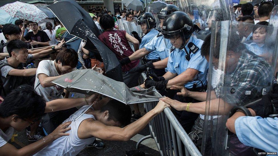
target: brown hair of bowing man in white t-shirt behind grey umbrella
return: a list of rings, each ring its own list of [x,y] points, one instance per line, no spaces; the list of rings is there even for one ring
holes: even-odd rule
[[[60,61],[62,63],[62,66],[71,66],[72,68],[74,68],[78,63],[78,55],[75,50],[71,48],[64,48],[58,53],[55,60],[56,63]]]

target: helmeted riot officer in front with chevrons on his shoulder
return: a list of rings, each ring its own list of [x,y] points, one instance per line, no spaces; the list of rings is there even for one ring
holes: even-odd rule
[[[162,26],[162,35],[170,39],[175,49],[170,53],[167,63],[167,72],[159,77],[158,82],[147,78],[145,87],[155,86],[157,90],[171,88],[173,85],[184,85],[190,91],[205,91],[207,85],[208,62],[201,56],[200,48],[203,40],[193,38],[193,32],[200,30],[193,24],[190,17],[181,11],[171,13]],[[167,45],[166,45],[167,46]],[[192,98],[179,99],[181,102],[198,102]],[[190,132],[198,114],[192,112],[177,112],[179,121]]]

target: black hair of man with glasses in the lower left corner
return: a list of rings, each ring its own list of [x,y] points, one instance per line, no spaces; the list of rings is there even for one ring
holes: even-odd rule
[[[27,84],[12,90],[0,104],[0,117],[18,115],[19,118],[40,118],[44,115],[46,103],[43,97]]]

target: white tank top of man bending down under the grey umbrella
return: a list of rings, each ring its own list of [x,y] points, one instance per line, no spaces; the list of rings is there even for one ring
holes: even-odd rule
[[[87,118],[93,118],[95,120],[95,117],[90,114],[83,114],[81,115],[88,107],[89,105],[81,107],[78,111],[76,111],[73,115],[71,115],[68,119],[66,119],[64,122],[72,121],[69,125],[71,127],[71,130],[65,132],[69,133],[69,136],[62,136],[61,138],[58,138],[54,140],[52,143],[50,143],[48,146],[44,147],[41,151],[36,153],[34,156],[40,156],[40,155],[46,155],[46,156],[72,156],[77,155],[80,151],[82,151],[85,147],[87,147],[89,144],[93,143],[95,141],[95,137],[87,138],[87,139],[79,139],[77,131],[80,123],[87,119]],[[93,107],[91,107],[93,109]],[[79,117],[81,115],[81,117]],[[77,120],[75,120],[77,117],[79,117]]]

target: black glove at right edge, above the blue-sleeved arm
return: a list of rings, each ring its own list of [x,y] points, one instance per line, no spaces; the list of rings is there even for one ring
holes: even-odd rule
[[[268,117],[268,115],[273,114],[273,104],[272,100],[277,101],[278,103],[278,95],[273,93],[268,93],[266,95],[263,95],[261,98],[261,101],[258,101],[252,105],[247,106],[247,108],[251,108],[256,112],[257,116],[260,116],[262,118]],[[276,103],[276,105],[278,105]]]

